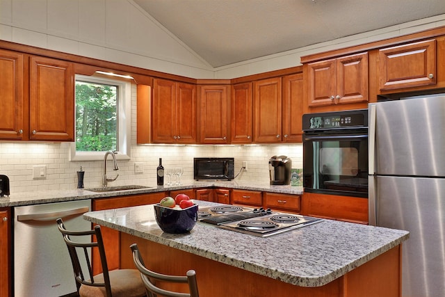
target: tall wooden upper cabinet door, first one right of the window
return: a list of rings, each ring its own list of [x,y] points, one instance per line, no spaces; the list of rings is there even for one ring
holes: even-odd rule
[[[153,80],[152,142],[174,143],[176,122],[176,83]]]

